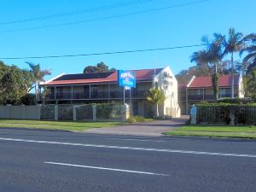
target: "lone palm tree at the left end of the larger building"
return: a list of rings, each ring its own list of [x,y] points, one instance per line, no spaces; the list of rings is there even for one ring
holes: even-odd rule
[[[36,102],[38,102],[38,88],[40,85],[40,82],[44,82],[44,76],[50,75],[51,71],[49,69],[47,70],[41,70],[40,64],[34,64],[32,62],[26,62],[29,67],[31,68],[30,73],[32,73],[32,76],[34,78],[34,86],[32,88],[35,88],[36,90]]]

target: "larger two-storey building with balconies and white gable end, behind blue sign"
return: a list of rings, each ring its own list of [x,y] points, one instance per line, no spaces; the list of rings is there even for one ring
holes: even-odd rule
[[[103,73],[61,74],[41,84],[46,90],[42,101],[47,103],[124,102],[133,115],[152,116],[154,108],[148,103],[149,90],[157,85],[165,91],[166,102],[160,107],[160,116],[177,117],[177,80],[171,68],[131,70],[135,73],[136,88],[125,90],[118,84],[118,71]]]

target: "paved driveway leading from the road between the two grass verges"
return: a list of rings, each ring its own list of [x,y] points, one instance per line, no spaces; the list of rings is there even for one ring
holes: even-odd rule
[[[136,123],[131,125],[119,125],[109,128],[90,129],[88,133],[115,134],[115,135],[133,135],[133,136],[163,136],[162,133],[170,131],[185,124],[189,116],[181,118],[154,120],[150,122]]]

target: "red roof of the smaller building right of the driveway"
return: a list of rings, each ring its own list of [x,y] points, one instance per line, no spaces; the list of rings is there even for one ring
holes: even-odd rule
[[[221,75],[218,77],[218,86],[227,87],[231,86],[232,76],[231,75]],[[239,85],[239,75],[234,75],[234,85]],[[189,88],[200,88],[200,87],[212,87],[212,77],[211,76],[200,76],[195,77],[189,84]]]

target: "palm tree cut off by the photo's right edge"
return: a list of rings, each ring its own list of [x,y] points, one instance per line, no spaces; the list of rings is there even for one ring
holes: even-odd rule
[[[240,55],[247,52],[247,55],[243,58],[243,64],[247,66],[247,74],[251,74],[253,69],[256,69],[256,33],[251,33],[243,38],[243,42],[246,46],[241,49]]]

